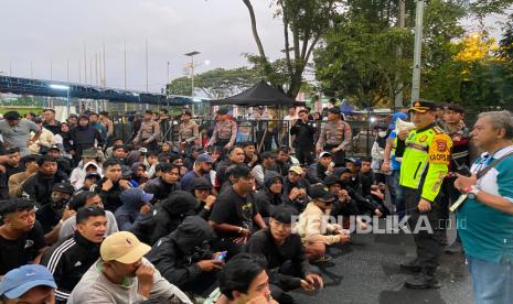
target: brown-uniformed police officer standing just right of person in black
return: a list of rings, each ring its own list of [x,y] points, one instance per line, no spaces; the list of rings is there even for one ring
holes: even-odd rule
[[[344,165],[345,150],[351,142],[351,127],[342,120],[340,108],[328,110],[328,122],[321,127],[317,142],[317,153],[329,151],[333,155],[335,166]]]

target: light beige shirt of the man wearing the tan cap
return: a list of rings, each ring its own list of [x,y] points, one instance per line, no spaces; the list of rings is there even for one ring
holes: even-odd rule
[[[146,258],[142,258],[142,263],[153,267]],[[138,289],[139,282],[137,276],[127,278],[124,285],[110,282],[101,272],[101,262],[98,260],[87,270],[84,276],[82,276],[78,284],[76,284],[67,300],[67,304],[132,304],[142,303],[148,300],[152,300],[151,303],[192,303],[181,290],[162,278],[157,269],[153,273],[153,285],[151,286],[150,298],[145,298],[140,295]]]

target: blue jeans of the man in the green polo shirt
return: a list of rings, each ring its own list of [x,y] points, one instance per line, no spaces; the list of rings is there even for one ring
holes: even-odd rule
[[[513,303],[513,263],[492,263],[467,257],[477,304]]]

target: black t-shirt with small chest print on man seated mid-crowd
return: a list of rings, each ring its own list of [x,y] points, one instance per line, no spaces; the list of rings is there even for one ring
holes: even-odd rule
[[[215,224],[229,224],[233,226],[253,229],[253,217],[258,214],[253,193],[241,197],[233,187],[226,188],[217,196],[212,209],[211,220]],[[234,237],[217,232],[220,237]]]

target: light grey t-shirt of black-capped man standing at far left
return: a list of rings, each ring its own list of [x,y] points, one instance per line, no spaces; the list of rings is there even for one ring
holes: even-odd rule
[[[7,120],[0,121],[0,134],[3,141],[9,143],[9,148],[19,148],[21,155],[29,154],[26,142],[31,132],[39,132],[41,128],[35,122],[26,119],[20,120],[17,126],[11,127]]]

